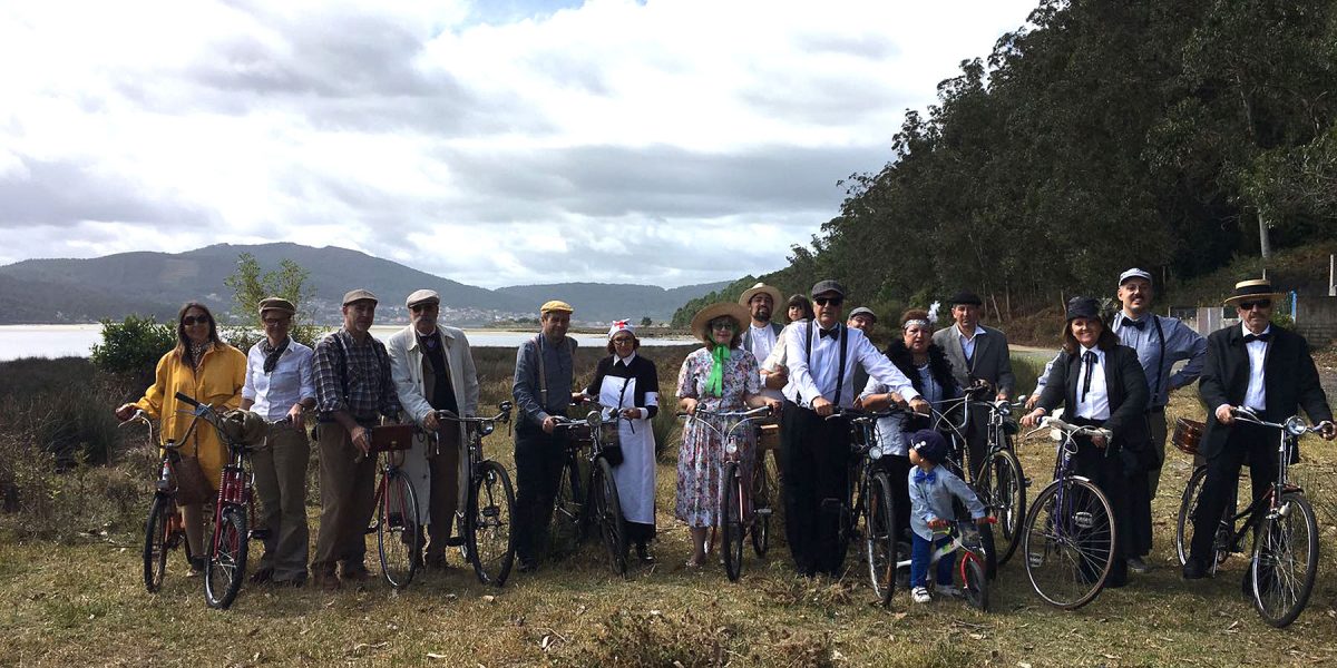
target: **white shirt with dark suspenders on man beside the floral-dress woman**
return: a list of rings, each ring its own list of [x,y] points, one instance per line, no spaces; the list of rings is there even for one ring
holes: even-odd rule
[[[870,378],[886,385],[892,391],[900,393],[905,401],[917,398],[909,378],[892,363],[886,355],[877,351],[873,343],[862,331],[838,326],[840,339],[822,337],[821,327],[814,322],[812,327],[813,353],[808,358],[808,326],[800,323],[785,330],[785,349],[789,358],[789,385],[785,386],[785,397],[804,407],[812,407],[817,397],[836,402],[836,375],[840,366],[841,345],[848,346],[845,354],[845,373],[841,382],[840,406],[853,407],[854,398],[858,397],[854,389],[854,367],[862,365]]]

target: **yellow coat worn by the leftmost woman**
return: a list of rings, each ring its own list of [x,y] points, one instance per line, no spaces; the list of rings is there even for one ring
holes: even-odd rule
[[[158,361],[156,379],[144,391],[144,397],[135,402],[150,417],[162,421],[162,440],[180,442],[190,428],[193,415],[180,413],[191,407],[176,401],[176,393],[182,393],[202,403],[214,407],[229,409],[241,407],[242,385],[246,383],[246,355],[227,343],[214,343],[205,353],[205,359],[199,365],[197,375],[189,361],[183,361],[176,351],[167,353]],[[218,490],[222,480],[223,462],[227,452],[218,438],[218,432],[211,425],[199,421],[189,444],[183,444],[180,453],[190,456],[198,452],[199,466],[205,469],[209,485]]]

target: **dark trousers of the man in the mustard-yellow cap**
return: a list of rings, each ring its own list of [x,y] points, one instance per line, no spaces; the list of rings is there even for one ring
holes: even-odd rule
[[[545,434],[527,424],[515,432],[515,552],[521,560],[536,558],[548,544],[566,446],[564,432]]]

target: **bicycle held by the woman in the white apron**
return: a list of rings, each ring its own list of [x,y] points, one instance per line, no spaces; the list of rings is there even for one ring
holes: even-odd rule
[[[555,415],[559,429],[567,429],[566,462],[558,481],[555,504],[555,529],[559,540],[570,542],[572,550],[584,541],[590,524],[599,526],[604,550],[612,572],[627,574],[627,537],[622,526],[622,501],[618,497],[618,482],[612,477],[612,465],[604,456],[604,449],[618,444],[618,421],[615,411],[596,402],[584,420],[571,420]],[[608,417],[604,417],[604,413]],[[583,442],[590,444],[588,454],[580,454]],[[582,472],[580,460],[588,466],[588,476]],[[570,538],[568,538],[570,537]]]

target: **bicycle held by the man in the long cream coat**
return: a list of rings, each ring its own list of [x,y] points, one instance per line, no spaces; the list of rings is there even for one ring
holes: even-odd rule
[[[497,405],[492,417],[460,417],[449,410],[436,411],[437,418],[469,425],[467,450],[469,486],[464,512],[459,516],[460,534],[465,542],[460,548],[473,565],[473,573],[483,584],[501,587],[515,562],[515,489],[511,476],[501,464],[483,454],[483,437],[496,430],[497,422],[511,424],[509,401]]]

